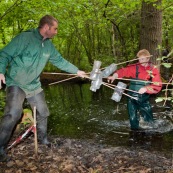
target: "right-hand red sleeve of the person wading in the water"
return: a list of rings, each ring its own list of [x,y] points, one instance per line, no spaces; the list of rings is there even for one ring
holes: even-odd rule
[[[156,66],[153,67],[152,70],[152,83],[151,85],[146,86],[148,94],[157,94],[162,89],[162,81],[160,78],[159,70]]]

